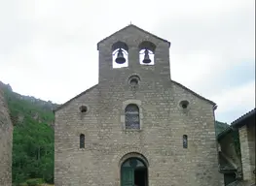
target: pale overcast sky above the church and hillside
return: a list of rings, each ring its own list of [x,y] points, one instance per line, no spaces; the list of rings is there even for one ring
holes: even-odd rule
[[[97,83],[96,43],[130,21],[171,42],[171,78],[216,119],[255,107],[255,0],[0,0],[0,80],[62,104]]]

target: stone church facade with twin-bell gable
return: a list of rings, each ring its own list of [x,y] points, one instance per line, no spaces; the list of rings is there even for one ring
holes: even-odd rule
[[[216,104],[170,78],[169,47],[135,25],[97,44],[98,84],[55,109],[55,186],[221,185]]]

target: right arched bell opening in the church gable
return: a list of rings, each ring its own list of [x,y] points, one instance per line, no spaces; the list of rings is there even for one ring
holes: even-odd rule
[[[139,45],[139,63],[141,65],[155,64],[156,45],[151,42],[142,42]]]

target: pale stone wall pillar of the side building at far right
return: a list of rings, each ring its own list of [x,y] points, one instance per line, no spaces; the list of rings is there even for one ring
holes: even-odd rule
[[[255,183],[255,123],[239,129],[243,179]]]

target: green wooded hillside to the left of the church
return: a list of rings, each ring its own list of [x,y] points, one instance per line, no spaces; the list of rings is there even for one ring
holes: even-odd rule
[[[5,88],[14,128],[13,183],[54,182],[54,121],[51,103],[29,100]],[[39,104],[40,103],[40,104]],[[38,179],[41,178],[41,179]],[[39,181],[40,180],[40,181]]]

